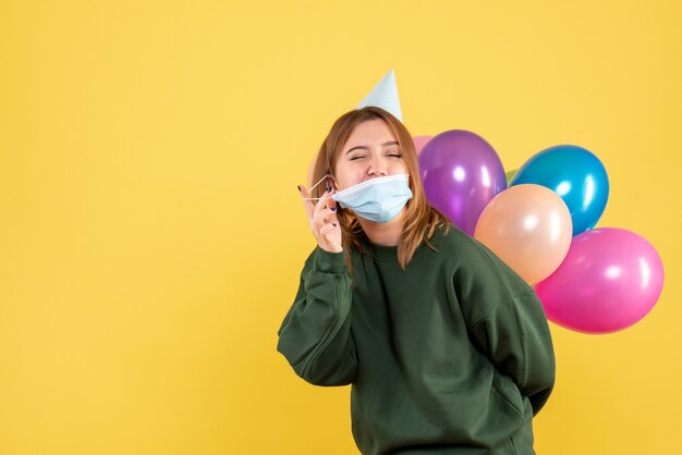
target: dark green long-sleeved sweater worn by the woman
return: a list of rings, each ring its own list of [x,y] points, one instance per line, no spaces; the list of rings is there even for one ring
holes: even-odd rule
[[[456,228],[404,271],[398,247],[366,245],[352,253],[355,285],[343,253],[315,248],[278,351],[313,384],[352,384],[363,454],[533,454],[555,382],[533,290]]]

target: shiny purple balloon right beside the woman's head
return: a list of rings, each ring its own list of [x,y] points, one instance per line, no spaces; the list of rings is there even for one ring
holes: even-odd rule
[[[463,130],[434,136],[419,153],[419,172],[428,201],[468,235],[490,199],[507,188],[495,149]]]

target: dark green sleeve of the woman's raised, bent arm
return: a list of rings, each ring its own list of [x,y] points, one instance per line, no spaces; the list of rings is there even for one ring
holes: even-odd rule
[[[279,329],[279,351],[315,385],[350,384],[357,368],[351,334],[351,279],[343,253],[316,247]]]

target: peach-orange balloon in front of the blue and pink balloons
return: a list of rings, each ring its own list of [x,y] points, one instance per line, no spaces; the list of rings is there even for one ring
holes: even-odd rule
[[[490,248],[528,284],[559,268],[571,246],[569,208],[551,189],[533,184],[507,188],[488,202],[474,238]]]

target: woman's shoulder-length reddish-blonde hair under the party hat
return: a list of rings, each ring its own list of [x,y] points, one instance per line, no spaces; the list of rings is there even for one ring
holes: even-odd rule
[[[414,142],[407,128],[405,128],[395,116],[374,106],[352,110],[341,115],[331,126],[329,134],[319,148],[313,170],[313,182],[318,182],[328,174],[334,175],[333,171],[341,156],[343,146],[355,127],[363,122],[377,119],[382,120],[387,124],[395,137],[395,140],[398,140],[406,172],[410,174],[410,189],[412,190],[413,197],[406,204],[401,241],[398,244],[398,262],[404,270],[423,241],[429,248],[435,249],[428,241],[434,236],[436,228],[444,226],[446,230],[448,230],[450,222],[426,200]],[[313,190],[313,197],[321,197],[326,190],[324,186],[325,185],[318,185]],[[353,267],[350,249],[354,248],[366,254],[370,251],[366,250],[363,246],[362,237],[365,236],[365,234],[357,219],[355,219],[349,210],[341,208],[339,208],[337,212],[337,218],[341,226],[345,262],[349,271],[352,273]],[[424,235],[427,228],[428,232]]]

